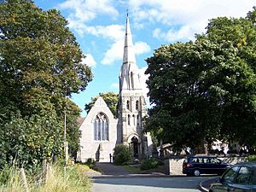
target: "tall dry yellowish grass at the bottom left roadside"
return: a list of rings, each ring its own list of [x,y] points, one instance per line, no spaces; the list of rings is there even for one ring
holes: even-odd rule
[[[44,181],[40,175],[27,177],[28,191],[30,192],[90,192],[91,181],[84,172],[90,170],[84,165],[68,166],[66,177],[63,174],[62,166],[52,166],[49,169],[48,177]],[[6,172],[0,172],[0,177]],[[20,179],[20,171],[15,168],[9,169],[8,180],[0,183],[1,192],[25,192],[25,188]]]

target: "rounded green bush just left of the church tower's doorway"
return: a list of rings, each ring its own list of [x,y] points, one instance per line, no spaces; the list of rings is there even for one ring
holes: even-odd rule
[[[131,149],[123,144],[113,148],[113,163],[116,165],[128,165],[131,162]]]

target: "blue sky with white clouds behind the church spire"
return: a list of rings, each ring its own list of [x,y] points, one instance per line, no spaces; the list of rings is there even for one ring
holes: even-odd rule
[[[210,19],[218,16],[245,17],[255,0],[35,0],[39,8],[58,9],[68,20],[91,67],[93,80],[71,100],[83,110],[91,97],[119,93],[119,70],[125,39],[127,9],[137,66],[143,81],[148,57],[162,44],[195,40],[206,32]],[[143,83],[145,96],[148,92]],[[148,99],[147,99],[148,101]],[[149,103],[148,103],[149,105]]]

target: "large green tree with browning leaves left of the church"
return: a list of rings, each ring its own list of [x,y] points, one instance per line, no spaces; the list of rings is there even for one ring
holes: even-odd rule
[[[85,90],[92,79],[90,67],[81,64],[79,44],[55,9],[44,11],[30,0],[4,0],[0,15],[0,135],[5,143],[1,157],[9,159],[6,149],[20,160],[33,151],[41,159],[60,154],[63,111],[67,110],[67,123],[79,115],[79,108],[65,97]],[[12,122],[17,128],[11,131]],[[79,129],[71,126],[74,132],[67,131],[67,138],[78,142]],[[26,146],[25,154],[8,147],[15,131],[20,137],[31,136],[24,145],[20,137],[13,137],[12,145]]]

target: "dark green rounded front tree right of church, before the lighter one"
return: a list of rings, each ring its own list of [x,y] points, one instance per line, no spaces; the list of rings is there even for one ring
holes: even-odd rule
[[[148,95],[154,107],[149,109],[146,130],[164,142],[195,148],[223,137],[224,119],[233,100],[240,103],[237,109],[253,113],[253,71],[229,42],[201,39],[170,44],[157,49],[147,61]],[[244,115],[236,118],[236,122],[249,122]],[[231,136],[231,132],[226,135]]]

